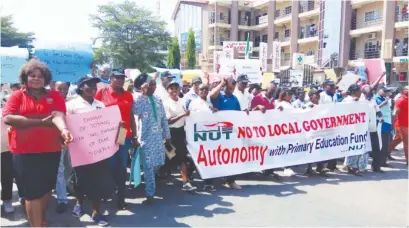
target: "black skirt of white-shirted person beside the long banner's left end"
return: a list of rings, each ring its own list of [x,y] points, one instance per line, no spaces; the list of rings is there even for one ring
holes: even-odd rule
[[[172,159],[173,162],[175,162],[176,164],[188,162],[189,158],[187,157],[188,150],[186,147],[186,132],[184,127],[169,129],[172,145],[176,149],[176,157]]]

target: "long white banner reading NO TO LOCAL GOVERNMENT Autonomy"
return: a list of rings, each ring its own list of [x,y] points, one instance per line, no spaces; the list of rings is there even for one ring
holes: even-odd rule
[[[187,147],[204,179],[359,155],[370,150],[368,111],[357,102],[249,115],[193,112]]]

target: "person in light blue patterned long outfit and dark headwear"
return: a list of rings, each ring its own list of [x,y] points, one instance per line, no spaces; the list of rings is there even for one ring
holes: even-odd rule
[[[170,131],[162,100],[153,95],[156,82],[150,76],[139,79],[142,95],[133,105],[133,113],[138,116],[138,141],[143,164],[146,200],[144,204],[153,203],[156,191],[155,173],[165,164],[163,140],[170,146]]]

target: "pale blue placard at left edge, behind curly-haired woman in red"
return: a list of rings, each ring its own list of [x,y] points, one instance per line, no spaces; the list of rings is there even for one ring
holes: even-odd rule
[[[18,47],[0,47],[1,83],[17,83],[20,68],[27,62],[28,51]]]

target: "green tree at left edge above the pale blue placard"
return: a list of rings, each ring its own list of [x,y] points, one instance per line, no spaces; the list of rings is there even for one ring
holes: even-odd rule
[[[22,48],[30,48],[30,44],[34,40],[34,33],[19,32],[13,25],[12,15],[2,16],[0,17],[0,20],[2,47],[19,46]]]

